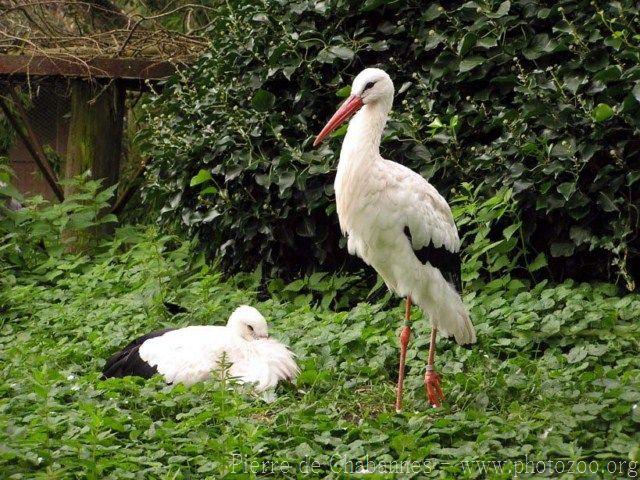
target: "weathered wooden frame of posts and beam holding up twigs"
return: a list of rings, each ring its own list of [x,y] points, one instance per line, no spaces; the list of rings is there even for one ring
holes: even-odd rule
[[[157,61],[136,58],[91,58],[75,56],[0,55],[0,82],[9,86],[9,97],[0,97],[0,108],[7,116],[18,136],[33,157],[45,180],[58,200],[64,199],[63,190],[39,143],[12,81],[28,81],[32,77],[66,78],[72,92],[70,135],[67,143],[66,178],[91,168],[94,175],[107,174],[105,186],[119,181],[119,149],[105,147],[119,144],[124,115],[124,91],[144,91],[149,83],[156,83],[176,72],[182,62]],[[102,87],[96,89],[98,85]],[[95,96],[93,96],[95,95]],[[92,98],[93,96],[93,98]],[[9,102],[15,105],[15,115]],[[74,103],[75,102],[75,103]],[[95,121],[91,121],[91,120]],[[96,124],[93,128],[91,125]],[[111,131],[113,130],[113,131]],[[110,132],[110,139],[105,139]],[[90,148],[88,148],[90,147]],[[89,152],[89,153],[87,153]],[[73,161],[69,161],[72,157]],[[139,166],[131,183],[113,203],[111,211],[120,213],[139,186],[139,178],[146,168],[146,160]],[[115,174],[115,176],[113,175]],[[66,193],[71,193],[66,192]]]

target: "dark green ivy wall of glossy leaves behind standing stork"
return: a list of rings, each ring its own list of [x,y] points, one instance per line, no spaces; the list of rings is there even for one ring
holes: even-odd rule
[[[363,67],[396,84],[385,156],[449,199],[514,193],[524,267],[623,280],[638,261],[635,2],[229,1],[209,53],[147,104],[147,204],[231,270],[345,262],[333,207],[340,141],[311,139]],[[500,230],[497,231],[500,235]],[[492,232],[495,235],[496,232]],[[358,263],[348,267],[359,266]]]

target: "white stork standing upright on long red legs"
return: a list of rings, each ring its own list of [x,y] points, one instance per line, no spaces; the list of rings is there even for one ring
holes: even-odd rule
[[[392,291],[407,299],[396,396],[396,410],[401,411],[412,302],[431,320],[424,384],[434,407],[444,400],[434,369],[436,333],[453,335],[461,345],[474,343],[476,334],[460,298],[460,238],[449,205],[420,175],[380,156],[393,94],[384,71],[363,70],[353,81],[351,96],[313,145],[357,112],[342,142],[334,184],[338,218],[349,253],[375,268]]]

